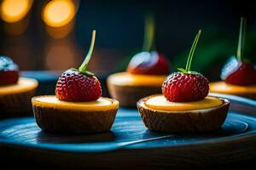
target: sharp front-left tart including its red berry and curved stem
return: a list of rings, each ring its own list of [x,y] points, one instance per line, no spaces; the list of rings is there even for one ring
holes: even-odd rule
[[[64,71],[55,95],[32,98],[32,110],[44,131],[50,133],[100,133],[110,130],[119,102],[102,97],[101,82],[87,71],[96,39],[92,31],[90,49],[79,69]]]

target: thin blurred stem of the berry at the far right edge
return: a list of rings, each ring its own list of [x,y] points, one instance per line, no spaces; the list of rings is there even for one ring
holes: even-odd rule
[[[236,53],[236,57],[240,61],[241,61],[241,57],[243,56],[243,52],[244,52],[244,43],[245,43],[245,37],[246,37],[246,26],[247,26],[247,20],[245,18],[241,17],[238,47],[237,47],[237,53]]]

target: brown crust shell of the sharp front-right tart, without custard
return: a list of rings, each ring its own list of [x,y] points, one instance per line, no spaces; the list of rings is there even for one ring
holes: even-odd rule
[[[224,123],[230,107],[230,101],[217,98],[223,103],[212,108],[192,111],[157,111],[145,105],[145,102],[154,96],[140,99],[137,102],[137,108],[145,126],[149,130],[159,132],[186,133],[218,129]]]

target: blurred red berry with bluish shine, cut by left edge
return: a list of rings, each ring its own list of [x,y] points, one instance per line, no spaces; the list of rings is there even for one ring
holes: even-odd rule
[[[0,56],[0,85],[14,84],[19,79],[19,68],[7,56]]]

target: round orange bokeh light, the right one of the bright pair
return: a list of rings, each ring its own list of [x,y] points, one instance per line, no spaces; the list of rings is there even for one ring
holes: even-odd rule
[[[53,0],[46,4],[43,10],[43,20],[51,27],[66,26],[73,20],[76,9],[71,0]]]

